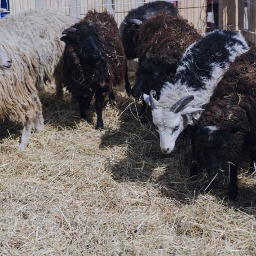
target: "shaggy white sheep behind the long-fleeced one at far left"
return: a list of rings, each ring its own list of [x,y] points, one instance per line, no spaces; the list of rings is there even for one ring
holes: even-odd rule
[[[61,33],[72,25],[67,15],[56,10],[32,10],[7,15],[0,20],[0,31],[8,30],[30,42],[39,63],[38,83],[52,80],[64,51]]]

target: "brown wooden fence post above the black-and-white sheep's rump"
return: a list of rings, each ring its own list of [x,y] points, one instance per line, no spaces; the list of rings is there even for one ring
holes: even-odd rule
[[[219,27],[220,29],[238,30],[240,0],[219,0]]]

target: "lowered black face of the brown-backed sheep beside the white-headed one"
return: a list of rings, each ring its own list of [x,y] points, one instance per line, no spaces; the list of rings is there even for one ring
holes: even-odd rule
[[[162,86],[168,81],[169,73],[150,60],[144,61],[136,73],[137,80],[131,89],[131,94],[136,100],[143,98],[143,94],[149,94],[151,90],[155,90],[159,95]]]

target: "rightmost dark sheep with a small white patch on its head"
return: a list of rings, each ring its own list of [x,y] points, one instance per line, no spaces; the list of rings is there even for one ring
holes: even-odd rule
[[[256,146],[256,48],[239,56],[205,105],[192,138],[191,175],[206,167],[215,174],[231,162],[229,199],[237,197],[237,169],[242,162],[253,167]]]

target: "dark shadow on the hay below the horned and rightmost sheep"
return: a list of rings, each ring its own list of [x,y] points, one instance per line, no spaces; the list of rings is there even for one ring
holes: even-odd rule
[[[220,174],[210,186],[211,178],[206,171],[202,171],[197,180],[189,180],[188,135],[180,136],[173,154],[162,154],[155,126],[152,122],[140,123],[135,104],[126,108],[123,100],[117,100],[117,108],[122,113],[120,126],[116,130],[106,131],[100,144],[100,148],[126,148],[118,161],[111,160],[107,163],[107,170],[114,180],[139,182],[142,186],[151,183],[160,190],[162,196],[174,198],[182,204],[189,204],[200,194],[210,193],[232,208],[251,209],[251,205],[255,207],[256,187],[246,187],[242,182],[239,184],[239,198],[235,202],[228,201],[228,175]]]

